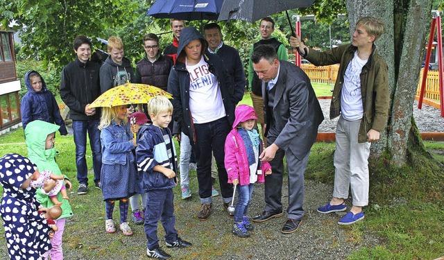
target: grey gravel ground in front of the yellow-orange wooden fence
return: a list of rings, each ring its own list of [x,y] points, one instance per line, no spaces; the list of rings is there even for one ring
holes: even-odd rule
[[[319,103],[325,117],[319,125],[319,132],[335,132],[339,118],[336,117],[336,119],[330,120],[330,99],[320,99]],[[415,101],[413,116],[420,132],[444,132],[444,117],[441,117],[441,112],[437,108],[422,104],[422,109],[418,110],[418,101]]]

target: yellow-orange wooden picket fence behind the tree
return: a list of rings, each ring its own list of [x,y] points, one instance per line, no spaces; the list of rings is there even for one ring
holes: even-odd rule
[[[334,84],[336,77],[338,76],[339,65],[316,67],[313,64],[302,64],[300,67],[305,73],[307,73],[312,83]],[[420,94],[423,71],[424,69],[421,69],[416,96],[419,96]],[[439,103],[438,71],[428,71],[424,98]]]

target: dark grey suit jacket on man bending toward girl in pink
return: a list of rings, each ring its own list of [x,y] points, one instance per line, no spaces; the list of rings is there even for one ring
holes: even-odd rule
[[[316,141],[318,126],[324,116],[307,74],[295,64],[284,60],[279,62],[273,109],[268,107],[267,83],[262,82],[264,120],[267,125],[265,136],[270,138],[268,129],[271,128],[273,116],[275,128],[280,133],[278,137],[271,137],[275,139],[274,144],[282,150],[291,150],[296,158],[303,159]]]

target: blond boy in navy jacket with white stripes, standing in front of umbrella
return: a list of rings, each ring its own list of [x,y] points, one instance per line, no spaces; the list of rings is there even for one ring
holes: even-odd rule
[[[148,102],[148,114],[153,124],[144,124],[137,138],[137,169],[142,171],[144,191],[146,192],[145,234],[146,254],[156,259],[169,259],[160,248],[157,239],[157,223],[161,220],[165,229],[168,248],[188,248],[191,243],[180,239],[174,228],[173,187],[177,184],[177,157],[171,131],[173,105],[168,98],[157,96]]]

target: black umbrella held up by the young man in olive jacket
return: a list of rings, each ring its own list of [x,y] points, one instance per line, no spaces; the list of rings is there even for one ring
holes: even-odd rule
[[[313,3],[314,0],[225,0],[217,20],[230,21],[236,19],[254,23],[269,15],[295,8],[309,7]],[[288,12],[287,18],[293,33]]]

